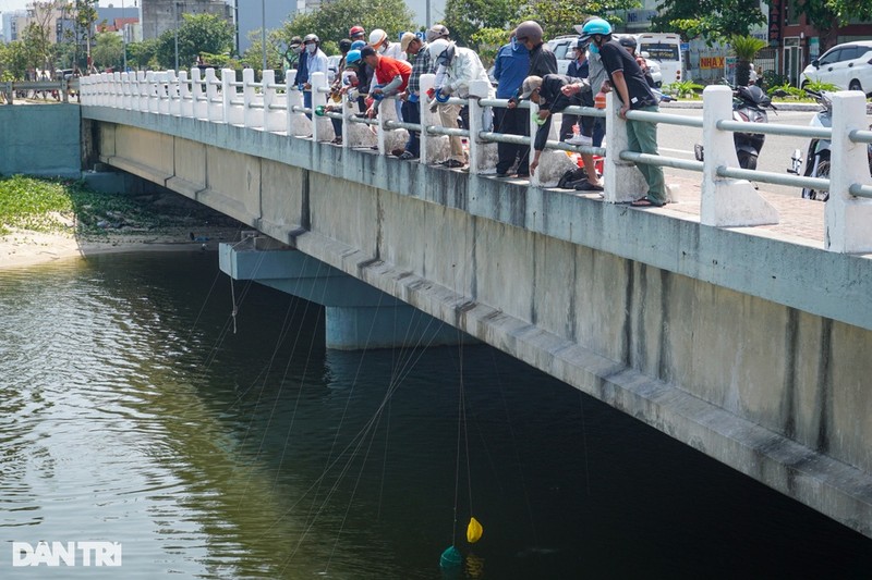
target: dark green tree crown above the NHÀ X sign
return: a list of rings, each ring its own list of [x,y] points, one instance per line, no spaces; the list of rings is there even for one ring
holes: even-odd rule
[[[699,36],[710,45],[748,36],[765,22],[759,0],[663,0],[651,20],[653,32],[680,33],[686,40]]]

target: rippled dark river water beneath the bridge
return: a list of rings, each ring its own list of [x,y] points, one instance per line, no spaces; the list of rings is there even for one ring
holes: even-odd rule
[[[0,270],[0,308],[1,578],[872,573],[872,541],[487,346],[326,350],[213,252]],[[40,540],[121,568],[12,566]]]

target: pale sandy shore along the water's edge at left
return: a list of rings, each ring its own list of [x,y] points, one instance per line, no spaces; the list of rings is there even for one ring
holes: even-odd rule
[[[16,231],[0,236],[0,269],[120,251],[215,250],[220,242],[232,242],[238,237],[239,232],[232,229],[191,232],[190,227],[170,227],[159,233],[110,233],[105,237],[87,238],[78,238],[72,233]]]

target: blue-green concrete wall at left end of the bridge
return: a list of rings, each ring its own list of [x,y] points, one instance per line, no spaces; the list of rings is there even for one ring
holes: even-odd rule
[[[80,111],[63,103],[0,107],[0,173],[78,178]]]

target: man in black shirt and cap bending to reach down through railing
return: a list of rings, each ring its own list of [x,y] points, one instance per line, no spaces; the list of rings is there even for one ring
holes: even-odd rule
[[[578,90],[572,96],[564,94],[562,88],[568,85],[578,86]],[[579,79],[561,74],[546,74],[541,76],[528,76],[521,87],[521,99],[530,99],[538,106],[538,129],[533,140],[533,160],[530,161],[530,174],[535,173],[538,166],[538,159],[545,149],[548,134],[552,131],[552,115],[561,112],[567,107],[581,106],[581,92],[590,92],[591,85],[586,78]],[[602,192],[603,184],[596,175],[594,169],[593,155],[581,153],[584,161],[584,172],[588,175],[588,183],[577,186],[576,189],[582,192]]]

